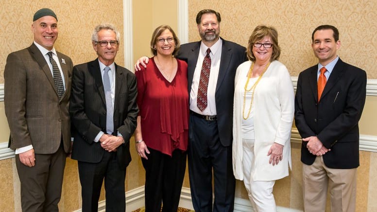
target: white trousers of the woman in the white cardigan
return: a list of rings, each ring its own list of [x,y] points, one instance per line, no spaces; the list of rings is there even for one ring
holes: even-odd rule
[[[254,181],[254,139],[242,139],[243,145],[243,183],[247,190],[254,212],[276,212],[276,203],[274,199],[273,181]],[[267,153],[266,153],[267,154]]]

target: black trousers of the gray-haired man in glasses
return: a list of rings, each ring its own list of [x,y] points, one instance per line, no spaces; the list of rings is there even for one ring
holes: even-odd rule
[[[102,182],[105,183],[106,212],[124,212],[126,169],[120,168],[116,152],[104,152],[98,163],[78,161],[83,212],[97,212]]]

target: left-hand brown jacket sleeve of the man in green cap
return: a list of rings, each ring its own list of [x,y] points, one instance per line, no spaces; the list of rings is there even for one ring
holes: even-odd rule
[[[7,57],[4,70],[4,106],[13,146],[21,148],[32,144],[26,122],[26,67],[16,53]]]

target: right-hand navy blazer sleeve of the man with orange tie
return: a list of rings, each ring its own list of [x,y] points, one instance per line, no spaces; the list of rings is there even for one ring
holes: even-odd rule
[[[317,135],[326,148],[331,148],[343,135],[355,127],[361,118],[366,97],[366,72],[360,69],[350,71],[353,76],[349,77],[353,77],[353,81],[345,89],[347,93],[343,112]]]

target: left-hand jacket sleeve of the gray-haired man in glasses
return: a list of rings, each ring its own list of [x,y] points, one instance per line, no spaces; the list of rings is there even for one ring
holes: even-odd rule
[[[99,126],[93,124],[85,111],[85,70],[81,70],[78,66],[73,67],[72,89],[69,112],[71,122],[77,132],[88,143],[92,143],[98,133],[101,131]]]

